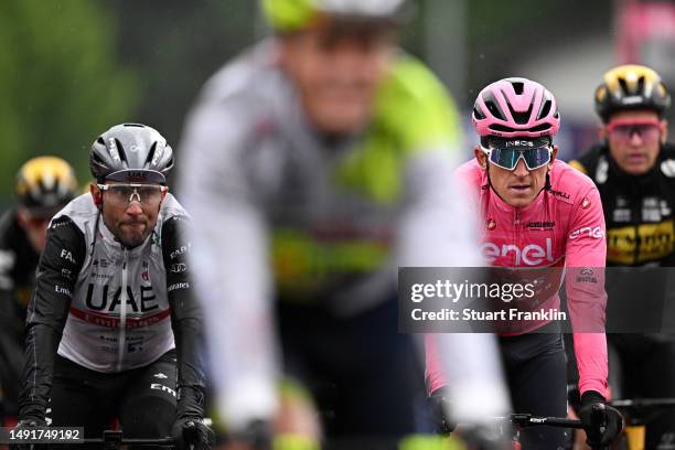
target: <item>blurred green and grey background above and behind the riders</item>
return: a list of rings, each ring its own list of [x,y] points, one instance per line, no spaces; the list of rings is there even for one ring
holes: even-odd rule
[[[441,76],[465,116],[488,82],[544,83],[576,151],[577,135],[594,126],[592,88],[615,63],[615,12],[628,1],[422,0],[404,46]],[[178,147],[203,83],[265,34],[254,0],[1,1],[0,208],[33,156],[65,158],[84,184],[88,146],[114,124],[151,125]]]

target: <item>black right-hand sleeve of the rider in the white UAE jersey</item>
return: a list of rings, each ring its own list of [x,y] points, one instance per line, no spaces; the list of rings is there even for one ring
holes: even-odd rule
[[[173,216],[162,225],[162,254],[167,269],[167,291],[171,326],[178,354],[178,417],[204,417],[204,358],[201,309],[194,296],[192,250],[185,216]],[[181,249],[186,249],[181,251]]]

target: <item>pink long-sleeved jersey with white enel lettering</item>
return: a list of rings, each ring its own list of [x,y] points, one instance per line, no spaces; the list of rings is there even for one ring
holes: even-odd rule
[[[604,330],[607,294],[600,281],[574,282],[576,274],[603,268],[607,253],[604,217],[592,181],[561,161],[550,170],[550,189],[525,207],[507,205],[490,188],[488,175],[475,160],[456,171],[456,176],[476,193],[481,250],[495,267],[565,266],[567,309],[575,330]],[[578,279],[578,278],[577,278]],[[546,307],[559,308],[556,293]],[[533,325],[537,329],[545,322]],[[574,333],[579,368],[579,389],[607,393],[607,341],[604,333]],[[433,392],[447,384],[431,340],[427,340],[427,385]]]

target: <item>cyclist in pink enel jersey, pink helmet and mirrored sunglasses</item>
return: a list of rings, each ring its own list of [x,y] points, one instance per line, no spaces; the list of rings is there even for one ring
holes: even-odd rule
[[[567,309],[579,367],[581,414],[591,446],[611,442],[622,429],[606,405],[607,341],[603,288],[606,258],[602,205],[592,181],[556,160],[560,127],[554,96],[526,78],[485,87],[473,109],[481,143],[475,159],[456,171],[476,195],[482,254],[495,267],[565,267]],[[558,293],[543,308],[560,307]],[[519,325],[519,326],[518,326]],[[566,363],[557,321],[515,324],[500,336],[502,360],[516,413],[565,416]],[[427,340],[427,384],[444,397],[448,381]],[[565,431],[523,433],[524,448],[565,444]]]

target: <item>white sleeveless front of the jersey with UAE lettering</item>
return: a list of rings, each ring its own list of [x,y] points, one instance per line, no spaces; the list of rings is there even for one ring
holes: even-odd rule
[[[121,372],[148,365],[174,347],[167,298],[171,287],[160,243],[163,223],[176,215],[186,213],[169,194],[152,234],[130,250],[105,226],[90,194],[54,217],[69,217],[87,249],[58,345],[61,356],[93,371]],[[61,257],[73,255],[63,248]]]

